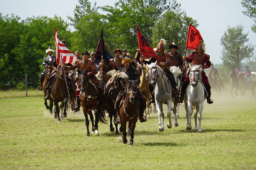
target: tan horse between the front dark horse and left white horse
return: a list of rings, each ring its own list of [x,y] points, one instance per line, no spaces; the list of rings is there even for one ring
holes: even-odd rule
[[[147,105],[147,111],[145,109],[146,115],[147,115],[147,119],[150,118],[150,113],[152,112],[152,107],[151,104],[149,104],[149,100],[151,99],[151,93],[149,93],[149,79],[148,79],[148,73],[147,73],[147,65],[143,64],[143,68],[144,71],[142,71],[140,80],[141,83],[139,84],[139,89],[141,89],[141,92],[143,93],[143,95],[146,98],[146,105]],[[156,113],[156,104],[154,103],[154,113]]]

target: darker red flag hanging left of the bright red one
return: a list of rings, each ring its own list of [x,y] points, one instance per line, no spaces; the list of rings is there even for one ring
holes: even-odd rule
[[[139,50],[142,52],[143,57],[145,58],[157,58],[156,52],[153,47],[149,45],[146,38],[143,37],[141,32],[139,31],[139,26],[137,25],[137,38],[139,43]]]

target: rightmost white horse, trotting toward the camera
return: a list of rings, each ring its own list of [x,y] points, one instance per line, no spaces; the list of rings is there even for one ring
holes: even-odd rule
[[[190,66],[190,73],[189,73],[189,80],[190,84],[186,90],[186,94],[184,96],[184,104],[186,110],[186,130],[191,130],[191,115],[193,113],[192,107],[195,106],[195,129],[198,129],[198,132],[202,132],[201,128],[201,120],[202,120],[202,112],[203,112],[203,101],[205,100],[204,97],[204,87],[202,82],[202,68],[200,65],[194,65],[193,67]],[[199,120],[199,127],[197,127],[197,113],[198,120]]]

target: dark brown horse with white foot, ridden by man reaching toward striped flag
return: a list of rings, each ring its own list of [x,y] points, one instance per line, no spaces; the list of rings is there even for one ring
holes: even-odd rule
[[[79,81],[81,85],[81,92],[80,92],[81,107],[83,108],[83,114],[85,115],[85,125],[87,130],[86,137],[90,136],[88,114],[90,115],[90,119],[92,121],[92,133],[94,132],[95,135],[99,135],[98,122],[106,123],[106,120],[105,120],[105,113],[103,112],[100,106],[98,90],[95,87],[95,85],[93,85],[93,83],[89,82],[87,69],[81,70]],[[94,123],[93,123],[92,110],[94,111],[94,115],[95,115]]]

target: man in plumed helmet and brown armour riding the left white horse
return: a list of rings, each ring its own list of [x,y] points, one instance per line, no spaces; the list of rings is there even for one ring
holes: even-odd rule
[[[164,44],[166,43],[166,41],[164,39],[161,39],[160,42],[157,45],[157,55],[158,57],[156,58],[157,61],[157,65],[161,68],[163,68],[164,71],[164,75],[166,75],[166,77],[168,78],[168,80],[171,82],[171,85],[173,86],[175,93],[174,93],[174,97],[175,100],[179,99],[179,95],[178,95],[178,90],[177,90],[177,83],[175,82],[175,78],[173,73],[171,73],[170,69],[169,69],[169,65],[170,65],[170,53],[164,53]],[[152,93],[153,97],[151,97],[151,100],[149,101],[149,103],[154,103],[154,94]]]

